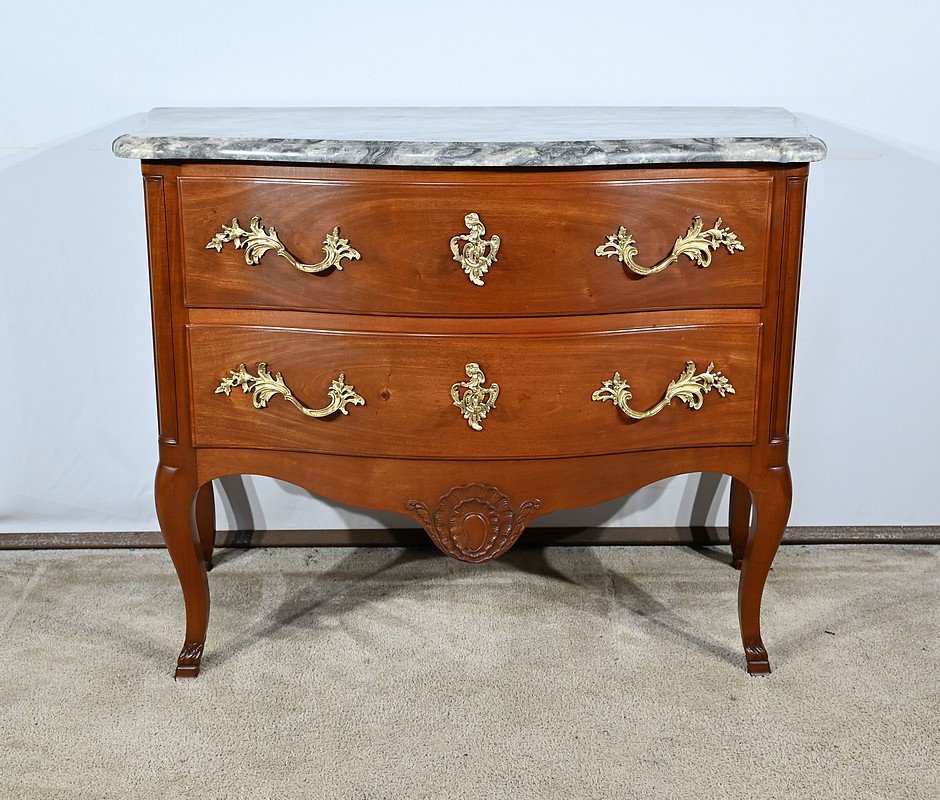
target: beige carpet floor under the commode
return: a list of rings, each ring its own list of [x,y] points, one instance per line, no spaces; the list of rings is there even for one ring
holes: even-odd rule
[[[940,547],[0,552],[2,798],[940,797]]]

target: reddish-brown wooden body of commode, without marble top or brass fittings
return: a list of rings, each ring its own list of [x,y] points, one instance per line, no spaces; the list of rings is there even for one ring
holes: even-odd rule
[[[210,482],[238,474],[411,514],[438,547],[467,561],[499,556],[539,515],[673,475],[730,475],[745,659],[750,672],[769,671],[760,603],[792,494],[805,165],[484,172],[145,162],[143,170],[157,510],[186,604],[177,675],[198,673],[205,644]],[[447,246],[471,210],[507,248],[482,287]],[[717,253],[707,269],[682,259],[644,278],[593,255],[624,224],[638,260],[652,263],[695,213],[707,225],[722,217],[746,250]],[[247,226],[253,215],[275,225],[298,258],[319,260],[334,225],[363,258],[307,275],[273,253],[248,266],[231,245],[205,250],[216,225],[237,216]],[[698,371],[714,361],[736,393],[711,392],[695,411],[674,401],[640,421],[590,400],[620,371],[631,407],[645,410],[689,359]],[[258,409],[250,394],[215,393],[228,370],[254,371],[259,361],[308,406],[326,404],[339,372],[366,404],[309,419],[277,396]],[[487,385],[500,384],[482,431],[449,396],[470,361]]]

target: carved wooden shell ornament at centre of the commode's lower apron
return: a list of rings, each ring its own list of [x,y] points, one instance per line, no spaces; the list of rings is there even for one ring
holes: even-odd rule
[[[431,511],[412,500],[408,509],[423,523],[444,553],[460,561],[479,563],[497,558],[515,544],[530,512],[541,501],[530,500],[513,509],[495,486],[473,483],[447,492]]]

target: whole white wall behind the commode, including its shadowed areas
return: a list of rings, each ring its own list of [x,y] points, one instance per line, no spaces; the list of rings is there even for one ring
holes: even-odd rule
[[[864,0],[5,4],[0,532],[156,529],[142,193],[137,163],[113,158],[110,143],[131,115],[157,105],[802,113],[831,157],[810,180],[791,522],[940,523],[938,9]],[[404,522],[267,480],[228,488],[223,520],[233,525],[246,520],[231,504],[246,498],[259,528]],[[681,478],[548,521],[687,524],[713,488]],[[720,488],[708,522],[724,513]]]

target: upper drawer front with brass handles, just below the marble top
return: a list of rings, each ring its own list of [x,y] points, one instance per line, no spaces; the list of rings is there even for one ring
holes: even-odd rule
[[[258,169],[179,179],[188,305],[537,316],[763,303],[773,178],[756,170]],[[719,218],[743,249],[720,241]],[[335,262],[337,227],[361,257],[312,271]]]

